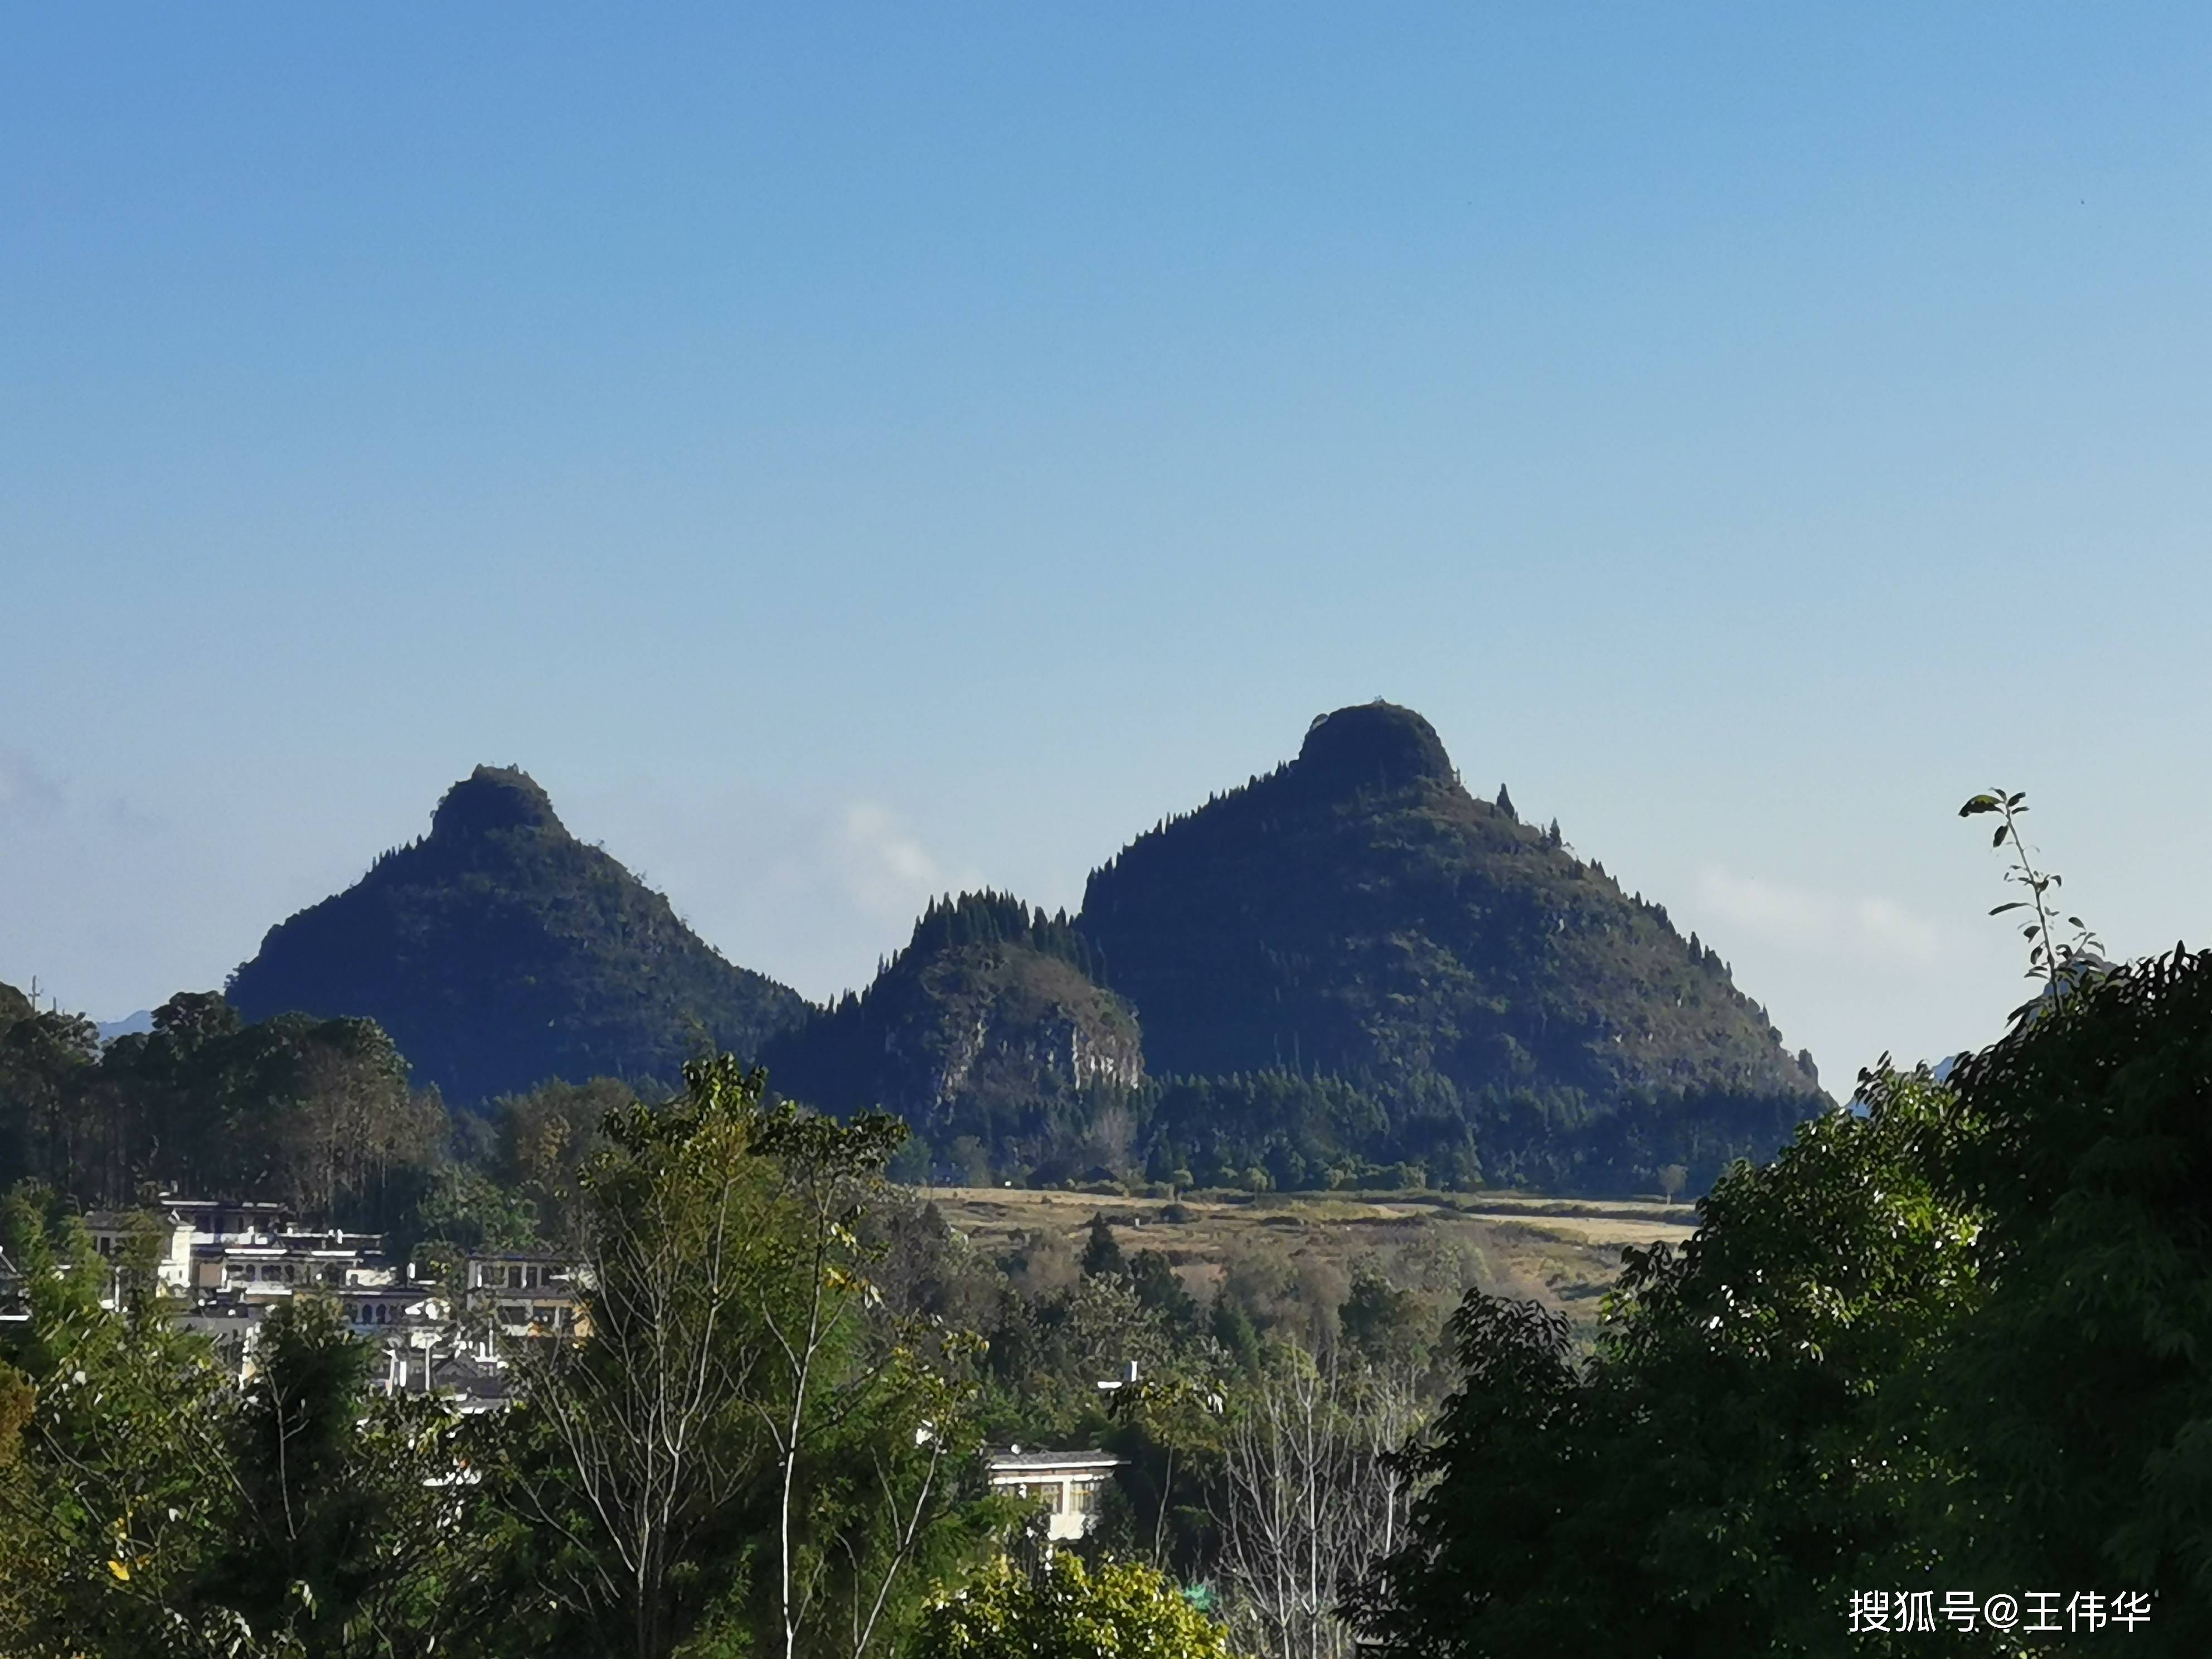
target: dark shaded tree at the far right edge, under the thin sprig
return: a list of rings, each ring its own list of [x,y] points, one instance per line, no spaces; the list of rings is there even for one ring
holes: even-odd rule
[[[2064,989],[2064,953],[2057,984]],[[1951,1073],[1986,1292],[1940,1356],[1991,1579],[2148,1590],[2130,1652],[2212,1650],[2212,953],[2093,982]]]

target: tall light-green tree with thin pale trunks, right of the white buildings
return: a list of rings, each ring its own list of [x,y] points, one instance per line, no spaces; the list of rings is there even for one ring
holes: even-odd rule
[[[588,1336],[529,1360],[515,1506],[566,1644],[874,1652],[964,1546],[973,1449],[960,1334],[867,1279],[898,1126],[770,1108],[728,1057],[686,1079],[611,1113],[582,1177]]]

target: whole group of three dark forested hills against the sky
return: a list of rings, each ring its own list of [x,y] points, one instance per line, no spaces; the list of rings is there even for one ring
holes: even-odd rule
[[[374,1020],[460,1108],[761,1057],[794,1099],[905,1117],[911,1179],[1628,1192],[1679,1166],[1701,1190],[1820,1102],[1712,949],[1502,790],[1469,796],[1385,703],[1139,836],[1079,918],[933,900],[825,1009],[719,958],[526,774],[478,768],[228,998]]]

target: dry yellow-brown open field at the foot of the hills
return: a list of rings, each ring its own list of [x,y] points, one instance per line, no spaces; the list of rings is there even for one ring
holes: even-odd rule
[[[1104,1214],[1124,1252],[1164,1252],[1197,1294],[1210,1292],[1239,1254],[1281,1252],[1292,1263],[1325,1263],[1345,1274],[1360,1259],[1374,1259],[1391,1279],[1418,1274],[1436,1292],[1480,1285],[1495,1294],[1533,1296],[1577,1321],[1595,1318],[1599,1296],[1619,1272],[1621,1245],[1681,1241],[1694,1225],[1681,1203],[1511,1192],[1126,1199],[1024,1188],[920,1188],[918,1194],[989,1252],[1009,1250],[1037,1230],[1082,1248],[1091,1217]]]

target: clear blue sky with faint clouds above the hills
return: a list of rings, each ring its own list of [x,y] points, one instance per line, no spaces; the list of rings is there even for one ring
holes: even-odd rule
[[[11,7],[0,980],[478,761],[732,960],[1385,695],[1832,1086],[2212,933],[2212,9]]]

